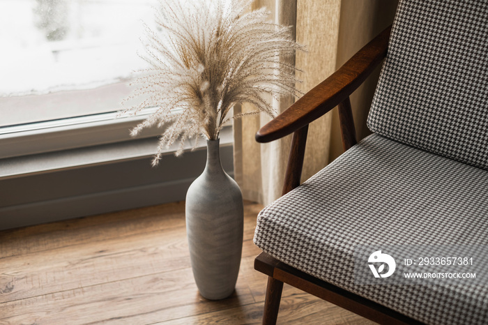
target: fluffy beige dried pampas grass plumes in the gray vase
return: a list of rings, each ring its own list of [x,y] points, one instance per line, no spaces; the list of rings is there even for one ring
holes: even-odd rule
[[[131,133],[165,126],[153,165],[176,141],[178,155],[187,138],[218,139],[225,123],[244,115],[227,116],[236,103],[256,107],[246,114],[275,116],[267,94],[298,96],[296,69],[280,56],[302,47],[291,38],[290,27],[268,22],[266,9],[247,11],[251,2],[165,0],[156,10],[158,31],[145,26],[142,58],[151,68],[139,71],[142,75],[133,83],[137,90],[126,98],[144,100],[121,113],[157,107]]]

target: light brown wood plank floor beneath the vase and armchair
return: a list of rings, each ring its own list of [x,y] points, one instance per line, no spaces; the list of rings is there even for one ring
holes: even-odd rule
[[[0,324],[259,324],[266,275],[252,268],[261,206],[245,204],[236,292],[202,298],[184,203],[0,232]],[[285,285],[279,324],[372,324]]]

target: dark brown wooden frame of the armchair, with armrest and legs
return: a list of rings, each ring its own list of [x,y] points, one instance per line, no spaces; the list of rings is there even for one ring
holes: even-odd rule
[[[381,32],[333,75],[306,93],[257,133],[257,142],[270,142],[293,133],[283,195],[300,185],[309,123],[338,105],[344,150],[356,144],[349,96],[386,57],[390,30],[391,27],[388,27]],[[256,257],[254,269],[269,276],[263,324],[276,324],[284,282],[380,324],[421,324],[379,303],[294,269],[266,252],[261,252]]]

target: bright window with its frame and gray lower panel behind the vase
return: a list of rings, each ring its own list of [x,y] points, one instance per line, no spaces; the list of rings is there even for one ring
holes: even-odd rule
[[[114,119],[132,70],[144,68],[142,21],[151,27],[157,4],[0,0],[0,229],[185,199],[205,142],[181,158],[176,145],[152,168],[161,130],[132,139],[144,116]]]

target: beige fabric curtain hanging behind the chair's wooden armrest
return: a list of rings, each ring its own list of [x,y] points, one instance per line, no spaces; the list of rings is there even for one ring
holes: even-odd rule
[[[298,86],[306,92],[390,24],[396,1],[256,0],[253,6],[268,8],[275,22],[296,26],[296,40],[307,47],[307,53],[297,53],[295,60],[296,66],[304,70],[298,75],[303,80]],[[372,86],[363,87],[359,96],[351,98],[353,105],[372,97],[372,90]],[[291,103],[293,99],[281,98],[273,104],[282,112]],[[247,105],[235,107],[235,113],[250,110],[252,107]],[[358,135],[366,133],[362,128],[365,116],[360,114],[357,121]],[[331,112],[310,125],[303,180],[326,166],[331,155],[337,156],[342,151],[340,133],[333,126],[333,119]],[[255,142],[255,133],[268,121],[266,116],[246,116],[234,122],[235,179],[245,199],[265,205],[281,196],[291,140],[288,136],[269,144]]]

